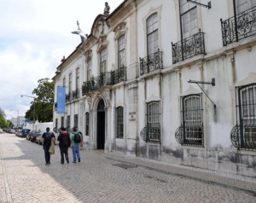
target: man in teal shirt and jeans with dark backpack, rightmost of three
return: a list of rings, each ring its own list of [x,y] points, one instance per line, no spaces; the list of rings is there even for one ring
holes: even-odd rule
[[[79,162],[81,161],[80,157],[80,144],[83,143],[83,136],[79,134],[77,128],[73,128],[73,134],[70,136],[71,142],[72,142],[72,151],[73,151],[73,163],[77,162],[77,159],[79,159]]]

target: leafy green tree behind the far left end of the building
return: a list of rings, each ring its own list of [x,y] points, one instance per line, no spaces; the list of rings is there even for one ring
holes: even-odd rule
[[[40,122],[52,121],[54,90],[55,84],[49,78],[38,80],[38,87],[32,91],[32,94],[36,95],[36,99],[31,102],[30,109],[26,111],[26,119],[33,119],[35,109],[35,119],[38,119]]]

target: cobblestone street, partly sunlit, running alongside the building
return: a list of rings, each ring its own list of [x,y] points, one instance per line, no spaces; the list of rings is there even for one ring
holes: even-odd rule
[[[55,146],[51,165],[44,165],[42,146],[0,134],[0,202],[256,202],[253,180],[237,189],[131,165],[102,151],[81,150],[81,156],[81,163],[61,165]]]

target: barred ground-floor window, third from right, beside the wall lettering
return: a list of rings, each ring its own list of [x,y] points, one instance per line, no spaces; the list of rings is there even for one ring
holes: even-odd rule
[[[160,142],[160,102],[147,104],[148,141]]]

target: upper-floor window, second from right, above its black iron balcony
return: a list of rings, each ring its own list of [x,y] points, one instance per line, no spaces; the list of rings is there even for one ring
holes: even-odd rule
[[[187,0],[180,0],[180,14],[183,39],[189,38],[199,30],[196,5],[187,2]]]

